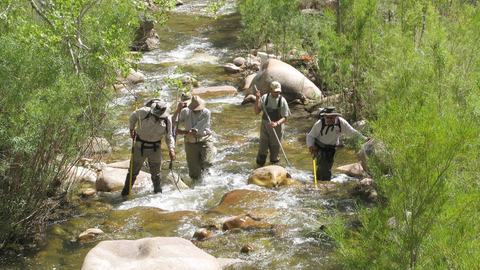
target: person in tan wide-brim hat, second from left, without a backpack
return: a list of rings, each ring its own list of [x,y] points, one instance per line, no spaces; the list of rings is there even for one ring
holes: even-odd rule
[[[186,107],[184,102],[179,102],[172,116],[174,124],[183,124],[184,130],[176,130],[175,135],[184,135],[188,175],[193,180],[200,178],[202,171],[213,165],[215,156],[210,111],[205,105],[205,100],[194,95]]]

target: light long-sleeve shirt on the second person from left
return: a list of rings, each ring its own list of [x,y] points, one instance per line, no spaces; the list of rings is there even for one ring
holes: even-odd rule
[[[188,108],[183,108],[178,116],[178,121],[180,124],[183,124],[185,131],[196,131],[196,134],[193,135],[194,137],[200,138],[211,135],[210,111],[207,108],[201,109],[198,113],[194,113]],[[176,123],[177,119],[173,119],[173,124]]]

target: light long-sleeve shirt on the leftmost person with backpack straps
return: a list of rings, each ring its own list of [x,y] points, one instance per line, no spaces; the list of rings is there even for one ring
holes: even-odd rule
[[[150,114],[150,108],[142,107],[131,114],[128,124],[129,128],[133,129],[138,122],[138,126],[135,128],[136,135],[147,142],[159,141],[161,136],[164,135],[168,150],[173,151],[175,143],[171,129],[171,118],[167,116],[166,121],[164,119],[157,119],[153,114]]]

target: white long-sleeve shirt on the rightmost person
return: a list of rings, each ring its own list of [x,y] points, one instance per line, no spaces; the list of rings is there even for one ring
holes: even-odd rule
[[[337,117],[338,123],[341,126],[341,133],[351,136],[357,134],[363,139],[366,139],[365,136],[361,135],[360,132],[358,132],[356,129],[352,128],[348,122],[341,118]],[[326,121],[326,120],[325,120]],[[331,130],[331,126],[328,126],[325,123],[325,126],[323,127],[323,135],[320,135],[321,131],[321,119],[316,121],[316,123],[313,125],[313,127],[310,130],[310,133],[306,135],[306,145],[308,147],[313,146],[314,139],[317,139],[323,144],[328,144],[328,145],[337,145],[338,144],[338,138],[340,137],[340,127],[337,124],[337,120],[335,119],[335,125],[333,125],[333,130]],[[328,129],[328,130],[327,130]]]

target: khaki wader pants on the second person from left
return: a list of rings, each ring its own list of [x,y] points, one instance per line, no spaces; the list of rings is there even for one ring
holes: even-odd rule
[[[211,140],[198,143],[185,141],[185,153],[191,179],[200,178],[202,169],[213,165],[214,150]]]

